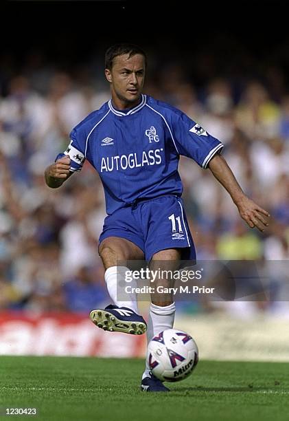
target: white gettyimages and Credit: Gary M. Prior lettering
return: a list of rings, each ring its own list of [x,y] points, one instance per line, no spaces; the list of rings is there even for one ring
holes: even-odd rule
[[[127,283],[132,281],[149,281],[154,285],[125,285],[126,294],[213,294],[215,288],[208,288],[205,285],[155,285],[163,280],[179,281],[187,283],[188,281],[200,281],[202,279],[203,268],[199,270],[164,270],[158,268],[153,270],[150,268],[141,268],[139,270],[126,270],[124,272],[124,280]]]

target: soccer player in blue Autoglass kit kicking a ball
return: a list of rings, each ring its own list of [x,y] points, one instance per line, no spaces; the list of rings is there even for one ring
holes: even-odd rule
[[[251,228],[263,231],[269,215],[244,195],[220,155],[223,145],[219,140],[182,111],[142,94],[146,54],[141,48],[130,44],[108,48],[105,75],[111,100],[71,131],[67,150],[47,167],[45,180],[49,187],[58,188],[82,169],[85,160],[99,173],[108,214],[99,254],[113,304],[93,310],[90,317],[95,325],[111,332],[147,332],[149,342],[173,327],[175,304],[171,296],[153,295],[147,325],[139,315],[135,293],[130,294],[130,301],[117,298],[117,282],[124,281],[128,270],[117,266],[117,261],[145,259],[152,265],[165,261],[174,267],[181,259],[196,259],[181,199],[179,156],[209,168]],[[141,389],[169,390],[152,376],[150,367],[143,373]]]

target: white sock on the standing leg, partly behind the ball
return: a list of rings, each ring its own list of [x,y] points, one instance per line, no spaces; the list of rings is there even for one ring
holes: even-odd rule
[[[152,338],[166,329],[172,329],[174,326],[174,314],[176,305],[172,303],[161,307],[160,305],[150,305],[150,315],[148,317],[148,330],[146,331],[147,342],[150,343]],[[143,371],[143,377],[150,377],[150,367],[146,363],[146,369]]]

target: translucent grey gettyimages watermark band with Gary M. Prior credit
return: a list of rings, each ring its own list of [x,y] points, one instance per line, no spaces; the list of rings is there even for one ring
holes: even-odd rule
[[[118,261],[117,299],[289,301],[286,261]]]

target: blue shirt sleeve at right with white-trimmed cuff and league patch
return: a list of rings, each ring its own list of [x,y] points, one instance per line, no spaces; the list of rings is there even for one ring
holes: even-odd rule
[[[220,140],[183,113],[175,114],[172,127],[174,146],[178,153],[192,158],[203,169],[207,168],[211,158],[224,147]]]

